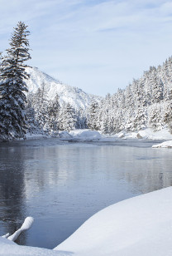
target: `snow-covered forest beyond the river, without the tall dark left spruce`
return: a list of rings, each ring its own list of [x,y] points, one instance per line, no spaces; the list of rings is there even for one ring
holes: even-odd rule
[[[126,89],[118,89],[117,93],[108,94],[101,101],[92,101],[86,110],[76,111],[69,103],[60,106],[58,96],[55,101],[47,103],[43,88],[31,96],[32,103],[28,97],[28,102],[36,116],[40,116],[36,119],[44,131],[49,132],[52,127],[55,129],[51,129],[51,132],[56,128],[89,128],[114,134],[121,130],[135,131],[149,127],[156,131],[169,127],[172,132],[172,57],[162,66],[151,66]]]

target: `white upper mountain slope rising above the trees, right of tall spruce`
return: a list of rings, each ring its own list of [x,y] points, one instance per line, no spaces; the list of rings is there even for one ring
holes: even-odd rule
[[[38,88],[44,86],[47,100],[54,100],[55,96],[60,96],[60,105],[65,101],[75,109],[80,107],[85,109],[91,101],[100,100],[100,97],[90,95],[77,87],[67,86],[55,78],[40,71],[37,67],[26,67],[26,72],[30,78],[26,80],[29,92],[36,93]]]

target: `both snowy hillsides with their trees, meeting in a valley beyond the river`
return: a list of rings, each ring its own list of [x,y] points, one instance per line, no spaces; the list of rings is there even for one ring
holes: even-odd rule
[[[55,121],[53,130],[89,128],[114,134],[122,130],[168,128],[172,132],[171,57],[162,66],[150,66],[149,71],[133,80],[126,89],[118,89],[117,93],[105,98],[66,86],[36,67],[26,71],[31,75],[26,83],[32,93],[30,99],[28,97],[28,112],[31,113],[31,107],[35,111],[30,120],[31,123],[36,121],[34,127],[39,126],[41,130],[52,130],[50,126],[54,126],[52,122]]]

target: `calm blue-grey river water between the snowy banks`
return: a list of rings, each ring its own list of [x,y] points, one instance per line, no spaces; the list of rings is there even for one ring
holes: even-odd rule
[[[159,141],[158,141],[159,142]],[[0,235],[35,222],[18,244],[53,249],[110,204],[172,185],[172,154],[155,141],[0,144]]]

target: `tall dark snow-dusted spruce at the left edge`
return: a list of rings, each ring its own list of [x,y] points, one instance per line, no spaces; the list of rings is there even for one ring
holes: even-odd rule
[[[24,62],[31,59],[27,26],[18,22],[0,70],[0,140],[25,138],[26,74]]]

